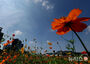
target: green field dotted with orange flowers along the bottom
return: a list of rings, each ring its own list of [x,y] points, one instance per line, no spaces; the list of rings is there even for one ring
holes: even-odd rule
[[[79,64],[89,64],[90,61],[79,62]],[[0,64],[78,64],[77,61],[70,62],[68,56],[50,56],[43,54],[33,54],[29,52],[4,50],[0,54]]]

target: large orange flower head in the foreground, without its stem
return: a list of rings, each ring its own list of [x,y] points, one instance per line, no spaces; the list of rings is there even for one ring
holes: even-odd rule
[[[75,32],[82,32],[87,27],[87,25],[82,22],[88,21],[88,19],[90,18],[78,18],[81,12],[82,10],[80,9],[73,9],[67,17],[54,19],[54,21],[51,24],[52,29],[57,30],[56,33],[58,35],[66,34],[70,30],[74,30]]]

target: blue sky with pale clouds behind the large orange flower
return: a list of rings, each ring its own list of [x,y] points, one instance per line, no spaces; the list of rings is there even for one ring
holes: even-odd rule
[[[79,17],[90,17],[90,0],[0,0],[0,26],[3,27],[5,34],[16,34],[16,38],[24,40],[27,38],[28,42],[32,42],[36,38],[37,46],[43,46],[48,49],[47,41],[53,43],[53,49],[60,50],[56,41],[60,42],[63,50],[68,43],[56,34],[56,31],[51,30],[51,22],[54,18],[67,16],[74,8],[83,10]],[[85,22],[88,28],[83,32],[78,33],[84,41],[86,47],[90,51],[90,20]],[[63,35],[66,39],[72,38],[72,32]],[[77,37],[75,38],[76,51],[83,51]],[[34,46],[34,43],[28,44]]]

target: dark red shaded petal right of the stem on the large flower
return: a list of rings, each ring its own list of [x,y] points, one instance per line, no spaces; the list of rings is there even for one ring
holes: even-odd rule
[[[81,22],[71,24],[71,28],[75,32],[82,32],[86,27],[87,25]]]

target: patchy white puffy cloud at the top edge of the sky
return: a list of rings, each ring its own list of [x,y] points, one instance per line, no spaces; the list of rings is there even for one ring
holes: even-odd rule
[[[42,7],[46,8],[47,10],[53,9],[54,6],[50,4],[48,0],[33,0],[35,3],[40,3]]]

